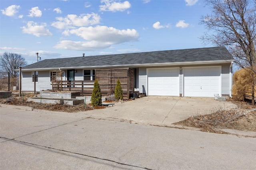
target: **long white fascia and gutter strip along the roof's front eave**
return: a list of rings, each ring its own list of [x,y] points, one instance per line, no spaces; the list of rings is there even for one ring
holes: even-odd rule
[[[115,68],[115,67],[145,67],[145,66],[178,66],[178,65],[196,65],[196,64],[225,64],[231,63],[233,60],[214,60],[214,61],[186,61],[174,63],[147,63],[147,64],[122,64],[122,65],[102,65],[102,66],[80,66],[80,67],[60,67],[60,68],[29,68],[22,71],[36,70],[67,70],[67,69],[93,69],[93,68]]]

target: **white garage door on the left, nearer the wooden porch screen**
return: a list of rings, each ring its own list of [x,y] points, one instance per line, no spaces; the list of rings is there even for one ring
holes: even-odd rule
[[[179,96],[179,69],[148,69],[148,95]]]

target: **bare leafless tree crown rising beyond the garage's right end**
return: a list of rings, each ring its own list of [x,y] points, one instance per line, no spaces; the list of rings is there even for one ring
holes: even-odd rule
[[[203,43],[225,46],[241,68],[256,77],[256,0],[205,0],[212,14],[202,16],[200,24],[213,31],[204,33]],[[256,80],[256,78],[254,78]]]

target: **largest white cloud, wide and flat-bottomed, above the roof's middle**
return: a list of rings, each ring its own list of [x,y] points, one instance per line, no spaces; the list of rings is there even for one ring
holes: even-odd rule
[[[138,33],[135,29],[116,29],[114,27],[96,26],[80,27],[78,29],[66,30],[64,35],[74,34],[82,37],[86,41],[60,41],[55,48],[88,50],[105,49],[114,44],[125,43],[129,41],[138,41]]]

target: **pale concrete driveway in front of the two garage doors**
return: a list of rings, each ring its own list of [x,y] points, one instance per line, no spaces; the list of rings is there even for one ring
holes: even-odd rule
[[[104,103],[108,104],[108,103]],[[214,98],[147,96],[122,104],[114,104],[106,109],[84,111],[94,117],[125,119],[132,123],[172,126],[172,123],[187,119],[192,115],[210,114],[218,109],[230,109],[232,102]]]

